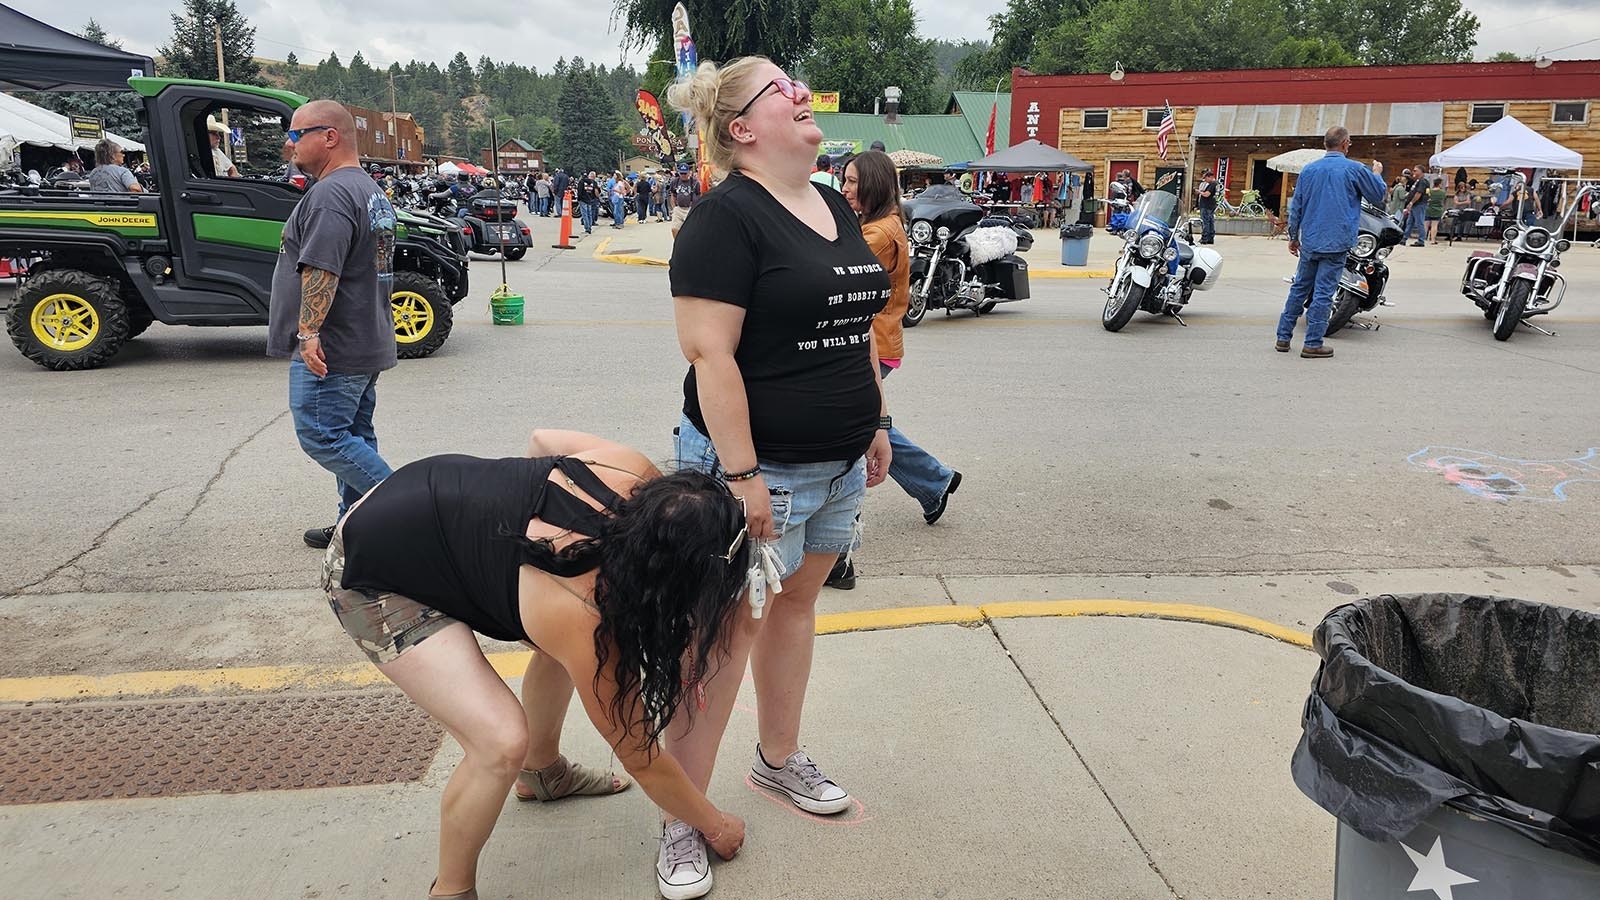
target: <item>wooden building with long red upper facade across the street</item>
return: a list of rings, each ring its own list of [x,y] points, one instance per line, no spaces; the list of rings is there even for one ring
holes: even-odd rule
[[[1011,144],[1037,138],[1093,163],[1101,197],[1122,170],[1154,187],[1163,178],[1194,184],[1221,163],[1232,202],[1254,189],[1282,208],[1283,176],[1266,162],[1322,147],[1331,125],[1349,128],[1350,155],[1382,162],[1392,184],[1402,168],[1426,165],[1501,115],[1600,170],[1597,59],[1093,75],[1014,69],[1011,83]],[[1166,104],[1178,131],[1162,160],[1155,136]],[[1443,176],[1448,187],[1454,173]],[[1488,181],[1488,171],[1469,178]]]

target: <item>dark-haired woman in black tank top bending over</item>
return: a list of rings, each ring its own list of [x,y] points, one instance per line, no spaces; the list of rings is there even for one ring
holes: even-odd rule
[[[744,822],[659,740],[688,724],[694,705],[680,698],[728,657],[747,533],[722,482],[662,476],[642,453],[573,431],[536,431],[528,456],[419,460],[346,514],[323,565],[333,612],[464,749],[429,897],[477,898],[478,854],[507,791],[555,801],[629,786],[562,756],[574,687],[650,799],[722,858],[738,854]],[[534,647],[520,701],[474,633]]]

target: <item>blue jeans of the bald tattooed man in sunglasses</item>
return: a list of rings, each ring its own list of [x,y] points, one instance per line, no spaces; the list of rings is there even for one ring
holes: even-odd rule
[[[290,360],[290,415],[301,450],[333,472],[339,488],[339,516],[394,471],[378,455],[373,410],[378,407],[376,375],[317,378],[306,364]]]

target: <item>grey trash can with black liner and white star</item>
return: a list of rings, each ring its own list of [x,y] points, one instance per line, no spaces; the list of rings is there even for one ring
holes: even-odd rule
[[[1334,900],[1600,897],[1600,617],[1384,594],[1315,647],[1291,772],[1339,820]]]

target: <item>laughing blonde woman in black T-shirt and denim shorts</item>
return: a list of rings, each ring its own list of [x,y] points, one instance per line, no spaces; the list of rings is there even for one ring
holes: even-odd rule
[[[829,815],[850,794],[800,749],[816,597],[840,554],[859,546],[858,512],[890,468],[890,418],[872,359],[872,319],[890,277],[845,197],[814,184],[822,131],[811,91],[763,58],[704,62],[667,98],[706,130],[728,176],[694,205],[672,248],[678,344],[690,362],[678,464],[722,476],[744,503],[750,538],[782,578],[760,618],[734,628],[728,661],[707,677],[704,711],[674,719],[667,751],[702,788],[728,724],[746,657],[760,743],[750,778]],[[656,886],[702,897],[704,838],[667,820]]]

